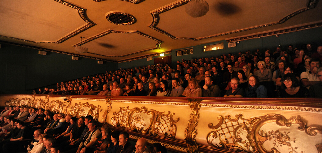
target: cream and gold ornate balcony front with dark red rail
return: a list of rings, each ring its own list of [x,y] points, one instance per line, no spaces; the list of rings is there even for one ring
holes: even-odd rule
[[[20,105],[92,115],[131,140],[144,137],[171,152],[317,153],[322,104],[313,98],[204,98],[0,95]]]

